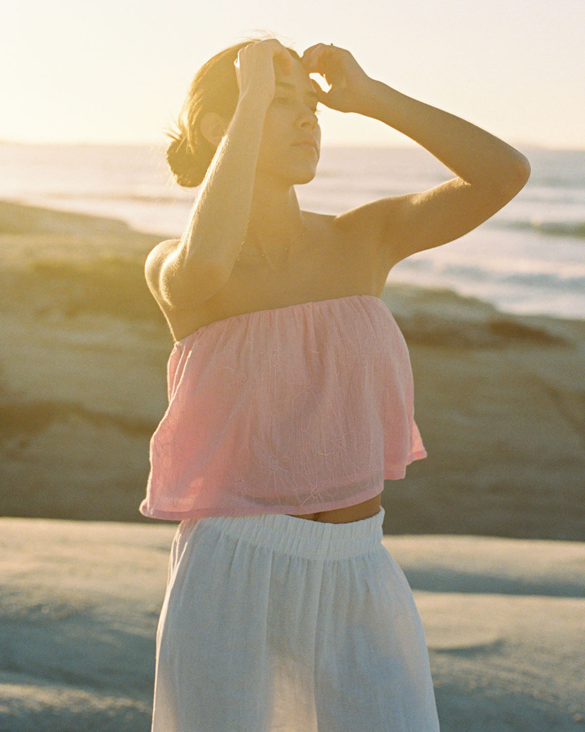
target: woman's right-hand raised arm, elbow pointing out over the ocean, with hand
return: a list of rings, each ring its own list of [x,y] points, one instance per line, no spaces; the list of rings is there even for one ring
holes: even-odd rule
[[[319,43],[303,53],[303,62],[309,72],[331,80],[328,93],[315,85],[320,102],[379,119],[456,173],[429,190],[380,198],[339,214],[371,232],[387,271],[409,255],[472,231],[529,179],[530,163],[521,152],[461,117],[370,78],[346,49]]]

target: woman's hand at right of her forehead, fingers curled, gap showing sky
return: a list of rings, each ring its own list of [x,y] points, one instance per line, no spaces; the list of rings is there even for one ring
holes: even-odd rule
[[[366,74],[350,51],[317,43],[303,52],[301,63],[309,74],[317,72],[331,86],[329,91],[323,91],[317,81],[311,79],[322,104],[339,112],[365,113],[376,82]]]

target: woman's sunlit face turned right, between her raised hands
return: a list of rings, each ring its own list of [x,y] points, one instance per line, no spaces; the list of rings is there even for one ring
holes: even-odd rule
[[[257,171],[279,177],[286,184],[308,183],[314,179],[321,150],[321,128],[315,109],[317,94],[300,61],[284,74],[275,65],[274,98],[268,106],[258,154]],[[317,149],[296,143],[310,138]]]

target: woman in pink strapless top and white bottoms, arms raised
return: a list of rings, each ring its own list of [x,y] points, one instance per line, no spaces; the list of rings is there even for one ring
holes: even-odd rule
[[[457,177],[339,215],[301,211],[317,102],[404,132]],[[197,72],[167,160],[201,187],[182,239],[145,268],[176,342],[140,512],[181,522],[152,731],[437,731],[420,616],[382,545],[383,480],[426,451],[380,294],[396,262],[510,201],[528,161],[369,78],[343,48],[299,57],[273,38]]]

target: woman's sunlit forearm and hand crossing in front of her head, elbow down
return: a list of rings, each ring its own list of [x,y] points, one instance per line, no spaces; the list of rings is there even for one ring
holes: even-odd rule
[[[227,129],[219,132],[189,223],[162,264],[153,250],[150,277],[147,259],[146,279],[156,280],[154,286],[170,307],[191,309],[205,302],[233,270],[248,227],[264,120],[274,97],[274,59],[290,70],[290,53],[274,39],[252,42],[238,52],[238,104]]]

